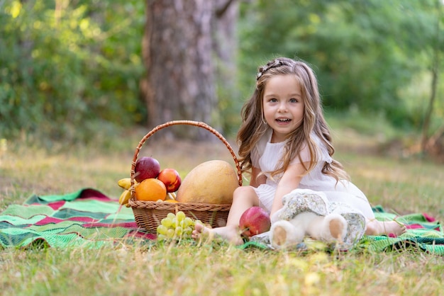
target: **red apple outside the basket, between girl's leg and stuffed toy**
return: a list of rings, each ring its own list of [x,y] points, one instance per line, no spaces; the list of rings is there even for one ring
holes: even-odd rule
[[[239,220],[239,229],[243,237],[252,237],[270,230],[270,215],[262,207],[250,207],[243,212]]]

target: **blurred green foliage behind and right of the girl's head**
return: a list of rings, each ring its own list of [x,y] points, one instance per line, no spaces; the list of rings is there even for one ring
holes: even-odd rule
[[[382,115],[397,127],[418,128],[431,92],[433,50],[444,50],[437,1],[244,2],[240,86],[254,84],[257,67],[268,59],[295,57],[313,66],[326,108]],[[443,85],[440,81],[435,127],[443,118]],[[244,93],[250,91],[244,87]]]

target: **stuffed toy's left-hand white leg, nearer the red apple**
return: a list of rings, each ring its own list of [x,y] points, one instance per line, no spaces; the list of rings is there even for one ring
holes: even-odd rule
[[[274,249],[284,249],[300,244],[305,237],[306,229],[318,215],[313,212],[304,212],[292,220],[279,220],[272,224],[270,241]]]

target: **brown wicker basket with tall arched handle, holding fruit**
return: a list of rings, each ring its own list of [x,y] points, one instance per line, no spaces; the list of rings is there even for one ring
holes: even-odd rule
[[[230,144],[225,140],[225,138],[213,127],[207,125],[206,123],[196,122],[192,120],[174,120],[162,125],[157,125],[150,132],[148,132],[142,140],[140,140],[138,146],[135,148],[135,153],[133,156],[133,163],[131,164],[131,198],[128,205],[133,209],[135,223],[140,227],[140,229],[146,232],[156,233],[157,226],[160,221],[167,217],[169,212],[175,213],[182,211],[192,219],[201,220],[204,224],[209,224],[211,227],[221,227],[225,226],[227,222],[228,212],[230,210],[231,204],[227,205],[215,205],[209,203],[160,203],[152,201],[141,201],[135,199],[134,193],[134,173],[135,173],[135,162],[138,159],[140,149],[149,137],[151,137],[155,132],[162,130],[165,127],[170,127],[172,125],[194,125],[196,127],[202,127],[206,130],[212,132],[219,140],[223,142],[228,148],[228,151],[233,156],[235,166],[238,173],[239,186],[242,186],[242,174],[240,172],[240,165],[235,152],[231,148]]]

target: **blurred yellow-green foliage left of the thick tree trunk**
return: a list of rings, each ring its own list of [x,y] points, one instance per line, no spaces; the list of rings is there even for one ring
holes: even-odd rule
[[[138,0],[1,1],[0,135],[50,146],[143,122],[144,7]]]

